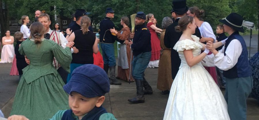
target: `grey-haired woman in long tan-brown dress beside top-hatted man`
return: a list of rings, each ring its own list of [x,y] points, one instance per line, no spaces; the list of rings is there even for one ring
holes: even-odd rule
[[[164,44],[165,29],[172,23],[173,20],[170,17],[163,18],[163,31],[161,32],[160,37],[161,55],[157,76],[157,89],[161,90],[163,95],[170,93],[170,88],[173,83],[171,74],[171,48],[165,47]]]

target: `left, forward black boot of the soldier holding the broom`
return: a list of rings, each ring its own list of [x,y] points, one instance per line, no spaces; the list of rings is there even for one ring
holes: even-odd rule
[[[145,97],[143,92],[143,80],[135,79],[136,87],[137,87],[137,97],[129,99],[128,101],[131,103],[144,103]]]

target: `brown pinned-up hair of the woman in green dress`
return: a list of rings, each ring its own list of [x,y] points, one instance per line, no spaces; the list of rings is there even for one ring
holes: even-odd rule
[[[34,22],[31,24],[30,38],[35,40],[36,44],[41,43],[41,37],[44,35],[43,25],[40,22]]]

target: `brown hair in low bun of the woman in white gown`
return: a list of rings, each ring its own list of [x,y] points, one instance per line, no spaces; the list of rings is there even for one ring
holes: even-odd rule
[[[186,30],[187,25],[189,23],[193,23],[193,17],[192,16],[183,16],[178,21],[178,26],[175,27],[176,32],[182,32]]]

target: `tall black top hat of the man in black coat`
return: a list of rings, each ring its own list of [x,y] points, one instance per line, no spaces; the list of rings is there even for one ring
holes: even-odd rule
[[[189,10],[189,7],[186,6],[186,0],[173,0],[173,5],[172,12],[177,14],[184,14]]]

